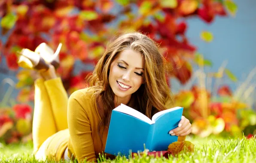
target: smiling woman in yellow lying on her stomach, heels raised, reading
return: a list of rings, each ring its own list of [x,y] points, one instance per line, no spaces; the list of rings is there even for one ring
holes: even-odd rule
[[[75,91],[69,100],[55,73],[58,57],[46,57],[44,45],[33,55],[23,49],[18,61],[42,76],[35,82],[33,120],[34,154],[39,160],[97,160],[104,152],[111,112],[121,103],[149,118],[173,106],[165,58],[155,42],[141,33],[126,33],[110,42],[88,78],[90,87]],[[186,136],[191,130],[183,116],[170,134]]]

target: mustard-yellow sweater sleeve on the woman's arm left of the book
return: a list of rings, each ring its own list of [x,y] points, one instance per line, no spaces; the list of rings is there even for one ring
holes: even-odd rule
[[[74,153],[79,162],[84,159],[96,160],[91,125],[88,114],[90,112],[89,98],[81,91],[75,91],[68,100],[67,122]]]

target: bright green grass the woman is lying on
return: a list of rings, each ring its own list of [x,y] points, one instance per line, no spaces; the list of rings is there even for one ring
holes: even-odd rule
[[[256,162],[256,139],[238,138],[186,138],[195,144],[194,153],[183,153],[177,157],[166,159],[153,158],[149,156],[137,157],[135,159],[117,157],[116,160],[99,159],[99,162],[130,162],[130,163],[253,163]],[[34,163],[37,162],[31,155],[32,143],[27,144],[0,144],[1,163]]]

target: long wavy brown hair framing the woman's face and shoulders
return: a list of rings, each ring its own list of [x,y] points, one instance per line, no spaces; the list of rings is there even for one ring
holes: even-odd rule
[[[88,81],[94,90],[94,97],[98,103],[98,112],[101,116],[100,127],[108,127],[110,124],[111,112],[115,108],[114,93],[109,84],[110,65],[116,56],[125,49],[132,49],[140,52],[145,59],[144,84],[131,95],[127,104],[147,117],[152,118],[156,112],[167,109],[166,103],[173,104],[171,91],[166,82],[167,62],[159,53],[155,42],[138,32],[125,33],[114,38],[107,45],[106,51],[98,61]],[[170,106],[170,104],[169,104]]]

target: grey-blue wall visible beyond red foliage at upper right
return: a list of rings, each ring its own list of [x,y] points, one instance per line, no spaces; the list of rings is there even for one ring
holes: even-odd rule
[[[190,18],[186,33],[189,41],[198,47],[198,52],[213,63],[205,72],[216,72],[224,60],[228,61],[226,68],[238,77],[238,82],[228,79],[224,82],[231,85],[233,91],[256,67],[256,0],[234,1],[238,5],[235,18],[217,17],[211,24],[204,23],[200,18]],[[206,43],[200,39],[202,30],[213,33],[213,42]],[[172,81],[172,85],[174,91],[182,87],[176,80]]]

